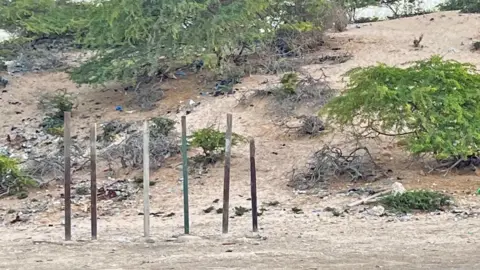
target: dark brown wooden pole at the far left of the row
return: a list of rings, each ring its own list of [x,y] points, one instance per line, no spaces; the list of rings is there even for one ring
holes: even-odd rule
[[[70,137],[70,112],[64,112],[64,126],[63,126],[63,143],[64,143],[64,157],[65,157],[65,179],[64,179],[64,197],[65,197],[65,241],[72,240],[72,204],[70,198],[70,184],[71,178],[71,164],[70,164],[70,146],[72,145],[72,138]]]

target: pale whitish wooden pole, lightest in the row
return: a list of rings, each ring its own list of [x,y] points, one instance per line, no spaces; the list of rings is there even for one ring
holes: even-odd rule
[[[150,237],[150,144],[148,121],[143,122],[143,232]]]

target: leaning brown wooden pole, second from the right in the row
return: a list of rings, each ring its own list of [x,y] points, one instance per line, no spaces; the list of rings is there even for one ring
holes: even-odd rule
[[[225,173],[223,178],[223,219],[222,232],[228,233],[228,209],[230,207],[230,157],[232,149],[232,114],[227,114],[225,134]]]

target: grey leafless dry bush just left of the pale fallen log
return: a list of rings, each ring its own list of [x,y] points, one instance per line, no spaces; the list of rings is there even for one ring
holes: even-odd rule
[[[350,181],[377,180],[385,173],[375,163],[367,148],[356,148],[345,155],[335,147],[324,146],[315,152],[304,170],[293,171],[289,187],[306,190],[328,184],[340,177]]]

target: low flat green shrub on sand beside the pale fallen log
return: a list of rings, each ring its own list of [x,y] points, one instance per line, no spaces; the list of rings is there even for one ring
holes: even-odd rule
[[[379,202],[386,209],[398,213],[409,213],[413,210],[431,212],[444,210],[452,204],[452,198],[436,191],[413,190],[383,197]]]

